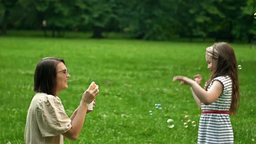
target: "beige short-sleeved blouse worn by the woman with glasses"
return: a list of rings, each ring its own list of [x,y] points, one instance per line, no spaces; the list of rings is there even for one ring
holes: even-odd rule
[[[71,120],[58,97],[36,93],[26,118],[26,144],[63,144],[62,134],[71,127]]]

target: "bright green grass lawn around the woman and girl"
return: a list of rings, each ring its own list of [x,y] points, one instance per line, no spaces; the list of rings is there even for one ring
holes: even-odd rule
[[[190,88],[172,79],[201,74],[205,81],[210,75],[205,48],[211,44],[0,37],[0,143],[24,143],[36,64],[56,56],[65,60],[71,75],[69,88],[58,95],[69,116],[92,81],[100,89],[79,138],[65,144],[196,144],[201,111]],[[256,49],[231,46],[242,65],[240,107],[230,116],[235,144],[256,143]],[[185,115],[197,126],[184,128]],[[167,127],[169,118],[174,128]]]

